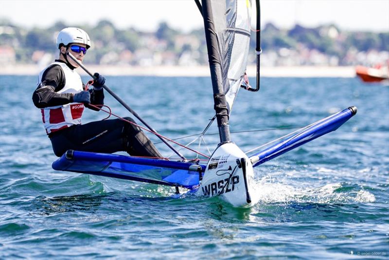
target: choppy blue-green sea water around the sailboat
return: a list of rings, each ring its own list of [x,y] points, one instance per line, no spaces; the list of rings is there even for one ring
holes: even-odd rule
[[[259,93],[241,91],[231,131],[305,126],[358,107],[337,131],[255,168],[259,203],[241,209],[215,198],[175,198],[169,187],[54,171],[31,101],[35,80],[0,78],[1,259],[388,259],[387,86],[263,78]],[[213,115],[208,78],[107,77],[107,84],[172,138],[201,132]],[[128,115],[111,97],[106,104]],[[87,111],[83,120],[104,117]],[[290,131],[231,135],[249,150]],[[217,139],[206,136],[211,151]],[[200,150],[208,152],[204,144]]]

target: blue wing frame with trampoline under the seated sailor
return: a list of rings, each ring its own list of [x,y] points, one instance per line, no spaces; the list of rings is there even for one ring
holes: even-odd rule
[[[199,184],[206,166],[106,154],[68,150],[53,162],[55,170],[72,171],[165,186],[193,189]]]

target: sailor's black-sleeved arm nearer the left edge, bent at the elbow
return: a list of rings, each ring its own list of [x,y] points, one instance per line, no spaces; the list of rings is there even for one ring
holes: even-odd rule
[[[33,102],[37,108],[65,105],[73,102],[72,93],[56,93],[65,86],[65,75],[59,65],[49,67],[33,93]]]

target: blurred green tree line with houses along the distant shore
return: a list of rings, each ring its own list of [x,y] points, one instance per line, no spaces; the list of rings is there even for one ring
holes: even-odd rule
[[[56,53],[55,37],[63,28],[74,26],[83,28],[91,37],[95,45],[93,52],[88,54],[88,62],[99,64],[101,58],[109,52],[128,50],[136,53],[140,49],[148,48],[150,52],[170,52],[180,56],[183,52],[198,52],[200,64],[207,62],[206,43],[203,28],[182,33],[171,28],[166,22],[161,22],[153,33],[146,33],[135,28],[118,29],[109,20],[100,20],[96,26],[88,24],[70,25],[56,22],[48,28],[25,29],[12,24],[6,19],[0,23],[0,45],[12,46],[15,50],[17,62],[31,62],[31,55],[35,51]],[[255,48],[255,32],[252,32],[250,45]],[[194,36],[196,42],[177,44],[177,37],[183,35]],[[145,38],[152,37],[162,42],[158,50],[147,46]],[[349,32],[342,31],[334,24],[322,25],[315,28],[306,28],[296,25],[292,29],[280,29],[268,23],[261,31],[261,45],[264,50],[301,49],[318,50],[319,52],[336,56],[342,60],[350,49],[358,52],[389,51],[389,32]],[[157,48],[157,47],[156,47]]]

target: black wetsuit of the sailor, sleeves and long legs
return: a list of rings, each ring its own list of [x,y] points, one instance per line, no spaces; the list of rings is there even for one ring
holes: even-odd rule
[[[63,62],[60,60],[55,61]],[[35,106],[42,109],[73,102],[71,93],[56,93],[65,86],[65,80],[65,74],[61,66],[49,66],[43,73],[41,82],[33,93]],[[103,104],[103,90],[95,91],[91,89],[89,93],[91,104]],[[98,111],[98,109],[90,107],[88,104],[85,106]],[[130,117],[125,117],[125,119],[134,122]],[[104,153],[126,151],[133,156],[161,157],[154,144],[139,127],[121,119],[73,125],[49,133],[49,138],[56,156],[62,156],[68,149],[73,149]]]

